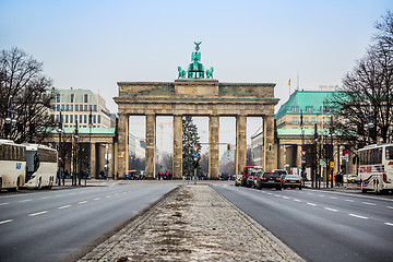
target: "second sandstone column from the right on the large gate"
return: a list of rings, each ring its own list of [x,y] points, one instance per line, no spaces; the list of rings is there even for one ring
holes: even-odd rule
[[[247,165],[247,116],[236,117],[236,175]]]

